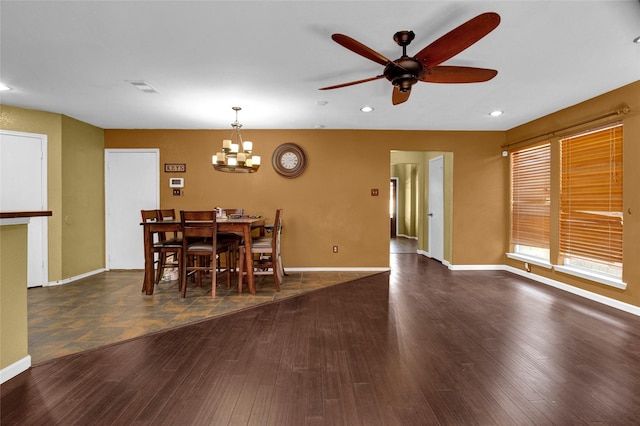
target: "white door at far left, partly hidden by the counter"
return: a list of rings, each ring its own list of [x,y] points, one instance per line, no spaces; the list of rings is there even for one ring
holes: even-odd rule
[[[0,210],[47,210],[47,135],[0,130]],[[27,227],[27,287],[49,283],[48,218]]]

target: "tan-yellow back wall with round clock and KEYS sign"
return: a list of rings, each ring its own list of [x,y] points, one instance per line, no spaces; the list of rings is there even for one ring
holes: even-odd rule
[[[263,158],[260,170],[248,175],[213,170],[211,155],[228,135],[227,129],[105,130],[105,147],[159,148],[162,164],[186,163],[186,173],[161,173],[163,208],[243,207],[269,219],[283,208],[285,265],[325,268],[388,267],[391,151],[449,151],[455,158],[456,230],[449,261],[502,262],[504,132],[246,129],[243,137],[254,141],[254,154]],[[271,167],[274,149],[285,142],[298,143],[308,157],[297,179],[282,178]],[[184,177],[182,196],[171,195],[170,177]],[[373,188],[378,197],[371,196]]]

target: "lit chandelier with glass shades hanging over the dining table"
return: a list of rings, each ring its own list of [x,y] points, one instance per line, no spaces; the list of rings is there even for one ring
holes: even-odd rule
[[[222,151],[217,152],[212,158],[213,168],[219,172],[227,173],[255,173],[260,168],[260,157],[251,155],[253,142],[243,141],[240,134],[242,124],[238,122],[238,111],[242,108],[233,107],[236,112],[236,121],[231,123],[231,139],[222,141]]]

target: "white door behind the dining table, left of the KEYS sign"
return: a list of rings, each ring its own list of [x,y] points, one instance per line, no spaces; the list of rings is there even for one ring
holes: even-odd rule
[[[106,265],[144,269],[140,210],[160,206],[160,150],[105,150]]]

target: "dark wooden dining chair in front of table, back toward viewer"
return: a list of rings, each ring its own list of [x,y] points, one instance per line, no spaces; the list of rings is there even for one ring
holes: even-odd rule
[[[218,256],[226,255],[229,262],[231,244],[218,240],[216,211],[180,211],[182,231],[182,275],[180,295],[186,297],[187,277],[195,274],[198,286],[202,285],[204,273],[211,275],[211,297],[216,296]],[[231,283],[231,269],[225,268],[227,286]]]

